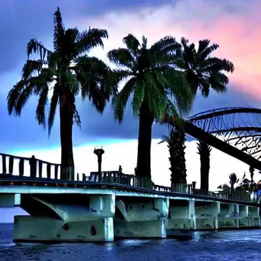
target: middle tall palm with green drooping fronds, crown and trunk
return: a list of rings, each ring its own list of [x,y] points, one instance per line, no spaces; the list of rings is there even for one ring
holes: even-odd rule
[[[165,111],[176,117],[179,112],[187,112],[192,93],[183,73],[170,65],[177,46],[174,38],[165,37],[150,48],[144,36],[142,43],[132,34],[124,37],[123,42],[126,48],[108,53],[109,61],[118,67],[118,81],[124,81],[114,100],[115,118],[122,121],[127,100],[132,97],[133,113],[139,116],[137,175],[151,177],[152,123]]]

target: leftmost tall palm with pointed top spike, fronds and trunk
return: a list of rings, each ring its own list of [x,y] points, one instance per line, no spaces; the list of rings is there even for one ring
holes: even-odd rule
[[[103,38],[108,38],[106,30],[90,28],[83,32],[79,32],[77,28],[66,30],[60,9],[57,8],[54,13],[54,50],[48,50],[36,39],[30,40],[27,46],[28,60],[23,66],[21,80],[14,85],[7,97],[9,115],[14,112],[16,116],[20,116],[29,97],[39,96],[36,119],[45,128],[47,95],[50,90],[53,91],[48,113],[48,133],[50,134],[56,108],[59,105],[61,165],[72,167],[72,171],[74,167],[72,125],[73,123],[81,125],[75,107],[75,96],[81,91],[83,99],[88,97],[102,113],[115,91],[114,86],[109,83],[109,67],[101,60],[87,56],[95,46],[103,46]],[[39,58],[31,60],[31,55],[36,53]],[[61,178],[65,179],[62,172]]]

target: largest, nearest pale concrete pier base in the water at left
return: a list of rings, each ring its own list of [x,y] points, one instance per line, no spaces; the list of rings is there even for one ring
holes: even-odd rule
[[[113,242],[113,218],[65,223],[48,217],[15,216],[14,242]]]

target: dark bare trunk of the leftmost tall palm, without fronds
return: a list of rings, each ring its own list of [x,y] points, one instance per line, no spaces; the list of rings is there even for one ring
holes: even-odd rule
[[[74,95],[71,92],[65,92],[60,96],[61,179],[72,180],[74,180],[72,152],[73,105]],[[71,167],[71,176],[66,172],[68,167]]]

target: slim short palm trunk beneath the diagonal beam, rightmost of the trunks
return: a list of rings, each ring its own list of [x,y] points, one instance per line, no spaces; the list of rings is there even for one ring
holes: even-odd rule
[[[205,141],[198,142],[198,154],[200,155],[200,189],[208,190],[208,176],[210,173],[211,146]]]

